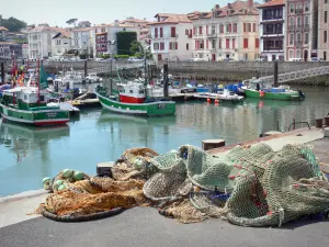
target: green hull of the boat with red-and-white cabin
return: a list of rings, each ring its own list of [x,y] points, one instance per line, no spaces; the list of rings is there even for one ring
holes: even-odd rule
[[[173,101],[133,104],[118,102],[99,93],[97,96],[104,109],[116,113],[143,116],[174,115],[175,113],[175,103]]]

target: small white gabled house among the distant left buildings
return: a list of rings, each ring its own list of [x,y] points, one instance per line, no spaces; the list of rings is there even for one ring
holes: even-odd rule
[[[52,56],[63,56],[71,49],[70,33],[63,30],[58,32],[52,40]]]

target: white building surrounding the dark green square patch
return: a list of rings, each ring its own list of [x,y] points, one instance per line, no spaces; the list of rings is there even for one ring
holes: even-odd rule
[[[118,32],[136,32],[137,41],[140,40],[140,26],[121,24],[117,20],[114,24],[103,24],[93,26],[95,35],[93,44],[93,56],[97,57],[103,54],[116,55],[118,52],[128,54],[129,50],[118,50],[116,34]],[[114,42],[114,45],[110,45],[110,42]]]

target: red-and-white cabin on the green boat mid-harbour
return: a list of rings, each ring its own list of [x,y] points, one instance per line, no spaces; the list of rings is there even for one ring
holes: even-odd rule
[[[117,83],[117,91],[118,100],[123,103],[144,103],[146,99],[145,86],[140,82]]]

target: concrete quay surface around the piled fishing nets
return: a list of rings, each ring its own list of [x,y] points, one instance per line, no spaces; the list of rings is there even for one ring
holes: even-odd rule
[[[302,128],[246,142],[243,145],[258,142],[266,143],[274,150],[286,144],[313,145],[321,168],[329,168],[329,138],[324,137],[322,130]],[[231,147],[220,147],[208,153],[225,155]],[[183,225],[159,215],[155,209],[135,207],[94,222],[57,223],[30,214],[46,197],[45,191],[39,190],[0,199],[1,246],[322,247],[329,244],[328,220],[296,221],[282,228],[239,227],[215,218]]]

